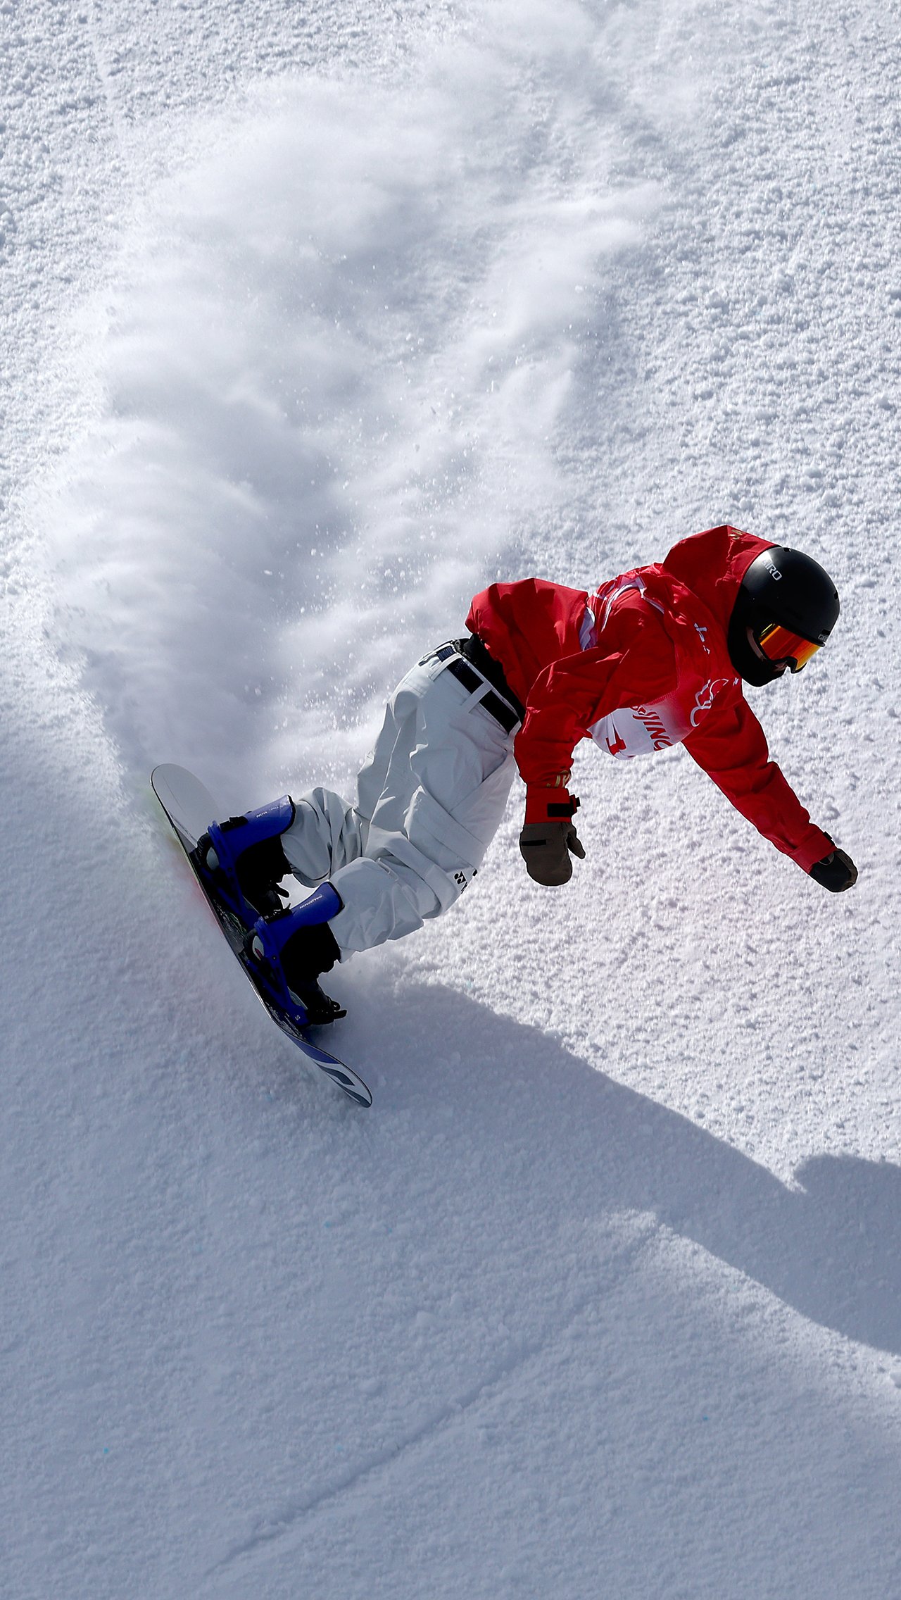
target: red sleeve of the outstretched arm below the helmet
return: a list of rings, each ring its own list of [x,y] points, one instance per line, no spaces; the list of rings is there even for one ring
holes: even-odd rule
[[[805,872],[834,848],[770,760],[763,728],[743,694],[714,707],[685,749],[736,811]]]

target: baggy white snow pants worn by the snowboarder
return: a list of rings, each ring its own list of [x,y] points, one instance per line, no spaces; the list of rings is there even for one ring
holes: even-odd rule
[[[357,805],[328,789],[296,802],[282,846],[301,883],[338,890],[330,928],[342,960],[438,917],[482,864],[515,771],[517,730],[479,704],[490,688],[469,691],[426,656],[387,702]]]

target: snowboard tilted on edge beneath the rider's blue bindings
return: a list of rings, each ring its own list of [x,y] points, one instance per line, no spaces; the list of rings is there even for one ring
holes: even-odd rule
[[[362,1077],[350,1067],[338,1061],[326,1050],[320,1050],[314,1045],[312,1038],[307,1037],[307,1013],[304,1006],[291,995],[285,979],[280,973],[261,971],[256,963],[245,954],[246,936],[256,922],[256,912],[246,901],[237,904],[230,896],[221,890],[218,885],[211,883],[208,877],[200,870],[194,850],[197,840],[206,832],[210,822],[222,814],[222,808],[216,805],[213,795],[203,787],[194,773],[189,773],[184,766],[155,766],[150,773],[150,784],[166,821],[170,822],[182,851],[184,858],[200,885],[206,904],[213,912],[219,928],[222,930],[232,954],[240,962],[243,973],[253,986],[256,998],[269,1011],[269,1016],[288,1035],[293,1045],[296,1045],[304,1056],[315,1062],[333,1083],[338,1083],[341,1090],[354,1101],[355,1106],[371,1106],[373,1096],[363,1083]],[[248,920],[250,914],[250,920]]]

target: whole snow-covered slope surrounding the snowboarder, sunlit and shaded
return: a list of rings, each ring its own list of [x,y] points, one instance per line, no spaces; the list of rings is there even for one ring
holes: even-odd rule
[[[0,3],[2,1592],[901,1597],[898,6]],[[682,752],[334,990],[170,848],[501,573],[730,520],[819,891]]]

